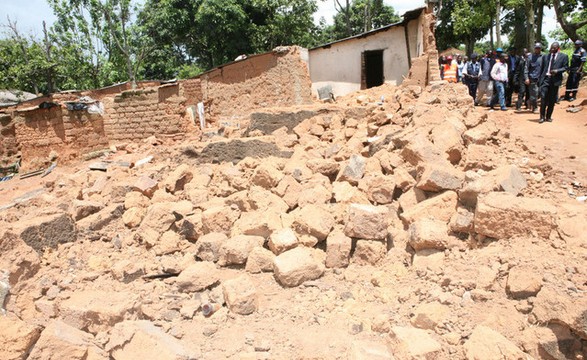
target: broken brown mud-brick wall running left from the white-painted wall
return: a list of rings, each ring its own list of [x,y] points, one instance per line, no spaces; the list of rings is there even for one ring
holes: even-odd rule
[[[22,157],[34,168],[56,152],[60,161],[113,144],[161,136],[178,140],[229,122],[246,126],[250,112],[312,102],[307,51],[279,47],[174,83],[118,84],[33,99],[0,113],[0,161]],[[89,111],[96,105],[95,111]],[[25,166],[26,167],[26,166]]]

